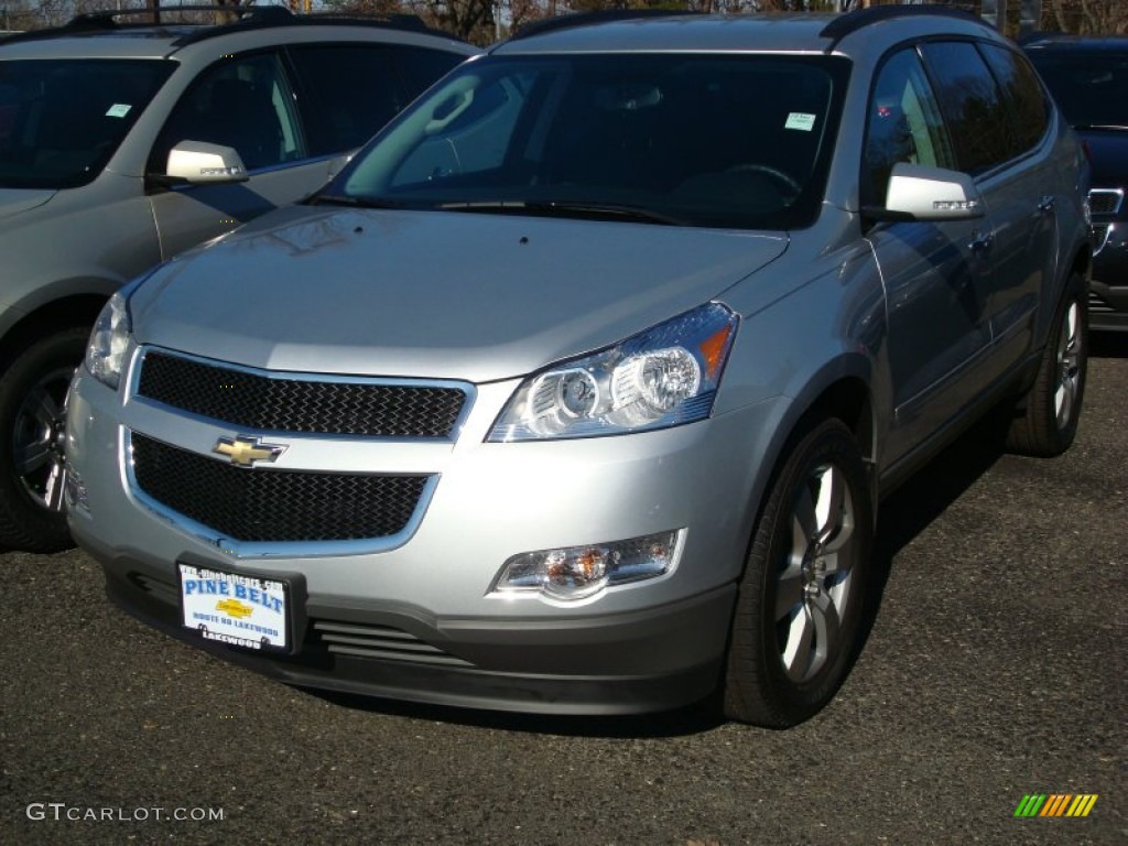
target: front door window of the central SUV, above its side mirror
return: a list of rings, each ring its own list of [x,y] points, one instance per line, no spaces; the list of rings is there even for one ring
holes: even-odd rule
[[[893,165],[954,168],[955,157],[940,106],[916,50],[890,58],[870,96],[865,130],[862,203],[881,205]]]

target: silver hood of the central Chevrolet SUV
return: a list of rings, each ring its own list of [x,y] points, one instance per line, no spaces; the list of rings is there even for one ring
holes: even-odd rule
[[[786,237],[465,212],[292,206],[174,259],[134,334],[272,370],[484,382],[628,337]]]

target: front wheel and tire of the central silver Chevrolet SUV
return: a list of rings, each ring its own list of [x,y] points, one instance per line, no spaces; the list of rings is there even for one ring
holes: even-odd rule
[[[873,505],[849,429],[828,420],[783,459],[740,582],[725,716],[784,729],[817,714],[853,664],[866,599]]]

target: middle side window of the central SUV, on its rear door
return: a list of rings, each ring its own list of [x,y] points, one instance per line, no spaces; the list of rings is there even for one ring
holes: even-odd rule
[[[923,44],[920,52],[936,85],[960,169],[977,175],[1014,158],[1019,150],[1013,118],[975,44],[933,42]]]

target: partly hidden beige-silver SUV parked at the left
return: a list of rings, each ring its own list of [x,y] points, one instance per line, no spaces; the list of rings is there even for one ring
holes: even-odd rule
[[[307,196],[477,52],[409,19],[175,15],[0,44],[0,547],[70,544],[63,397],[109,294]]]

